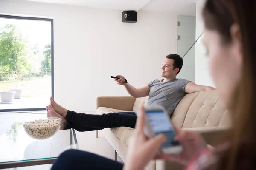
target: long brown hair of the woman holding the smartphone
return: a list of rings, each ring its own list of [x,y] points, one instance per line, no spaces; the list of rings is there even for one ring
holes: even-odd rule
[[[226,134],[231,147],[220,155],[216,169],[256,169],[256,0],[207,0],[205,28],[218,31],[222,43],[232,42],[230,28],[238,24],[242,44],[241,79],[230,106],[232,129]],[[239,70],[238,70],[239,71]]]

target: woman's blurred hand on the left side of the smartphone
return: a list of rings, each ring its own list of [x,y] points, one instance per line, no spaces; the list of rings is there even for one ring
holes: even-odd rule
[[[126,164],[123,170],[143,170],[151,159],[167,157],[157,154],[161,144],[166,142],[166,136],[160,134],[148,140],[143,131],[145,124],[144,107],[141,107],[139,115],[137,117],[134,138],[128,150]]]

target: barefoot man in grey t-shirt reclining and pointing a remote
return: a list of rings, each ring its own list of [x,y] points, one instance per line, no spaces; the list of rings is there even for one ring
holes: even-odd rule
[[[153,80],[142,88],[134,88],[125,83],[125,77],[117,75],[115,79],[118,85],[124,85],[128,93],[136,98],[149,96],[147,105],[158,104],[166,108],[169,116],[173,113],[180,100],[187,93],[198,91],[214,90],[209,86],[197,85],[185,79],[177,79],[183,65],[183,59],[177,54],[169,54],[161,67],[161,75],[164,79]],[[47,107],[47,116],[59,117],[61,130],[74,128],[78,131],[102,130],[113,127],[134,128],[137,116],[135,112],[108,113],[102,115],[76,113],[58,105],[51,97],[50,105]]]

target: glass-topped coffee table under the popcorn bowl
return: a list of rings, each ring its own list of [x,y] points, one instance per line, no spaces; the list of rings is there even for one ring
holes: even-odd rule
[[[32,115],[31,113],[20,113],[20,115],[23,121],[32,117],[35,119],[46,118],[46,114]],[[17,119],[13,120],[17,121]],[[64,150],[79,149],[74,129],[60,130],[49,139],[36,140],[26,134],[22,125],[23,121],[14,121],[9,120],[9,123],[6,123],[9,127],[6,127],[5,130],[3,130],[5,127],[0,125],[0,169],[23,167],[23,170],[26,169],[25,167],[28,167],[30,170],[29,166],[52,164]],[[50,165],[45,165],[43,169],[49,168]]]

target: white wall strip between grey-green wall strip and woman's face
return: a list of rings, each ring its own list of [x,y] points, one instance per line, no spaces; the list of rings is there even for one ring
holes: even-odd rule
[[[205,0],[199,0],[196,3],[196,39],[204,32],[204,22],[202,18],[204,3]],[[196,43],[195,46],[195,83],[215,87],[209,74],[208,58],[201,53],[197,46],[198,43]]]

